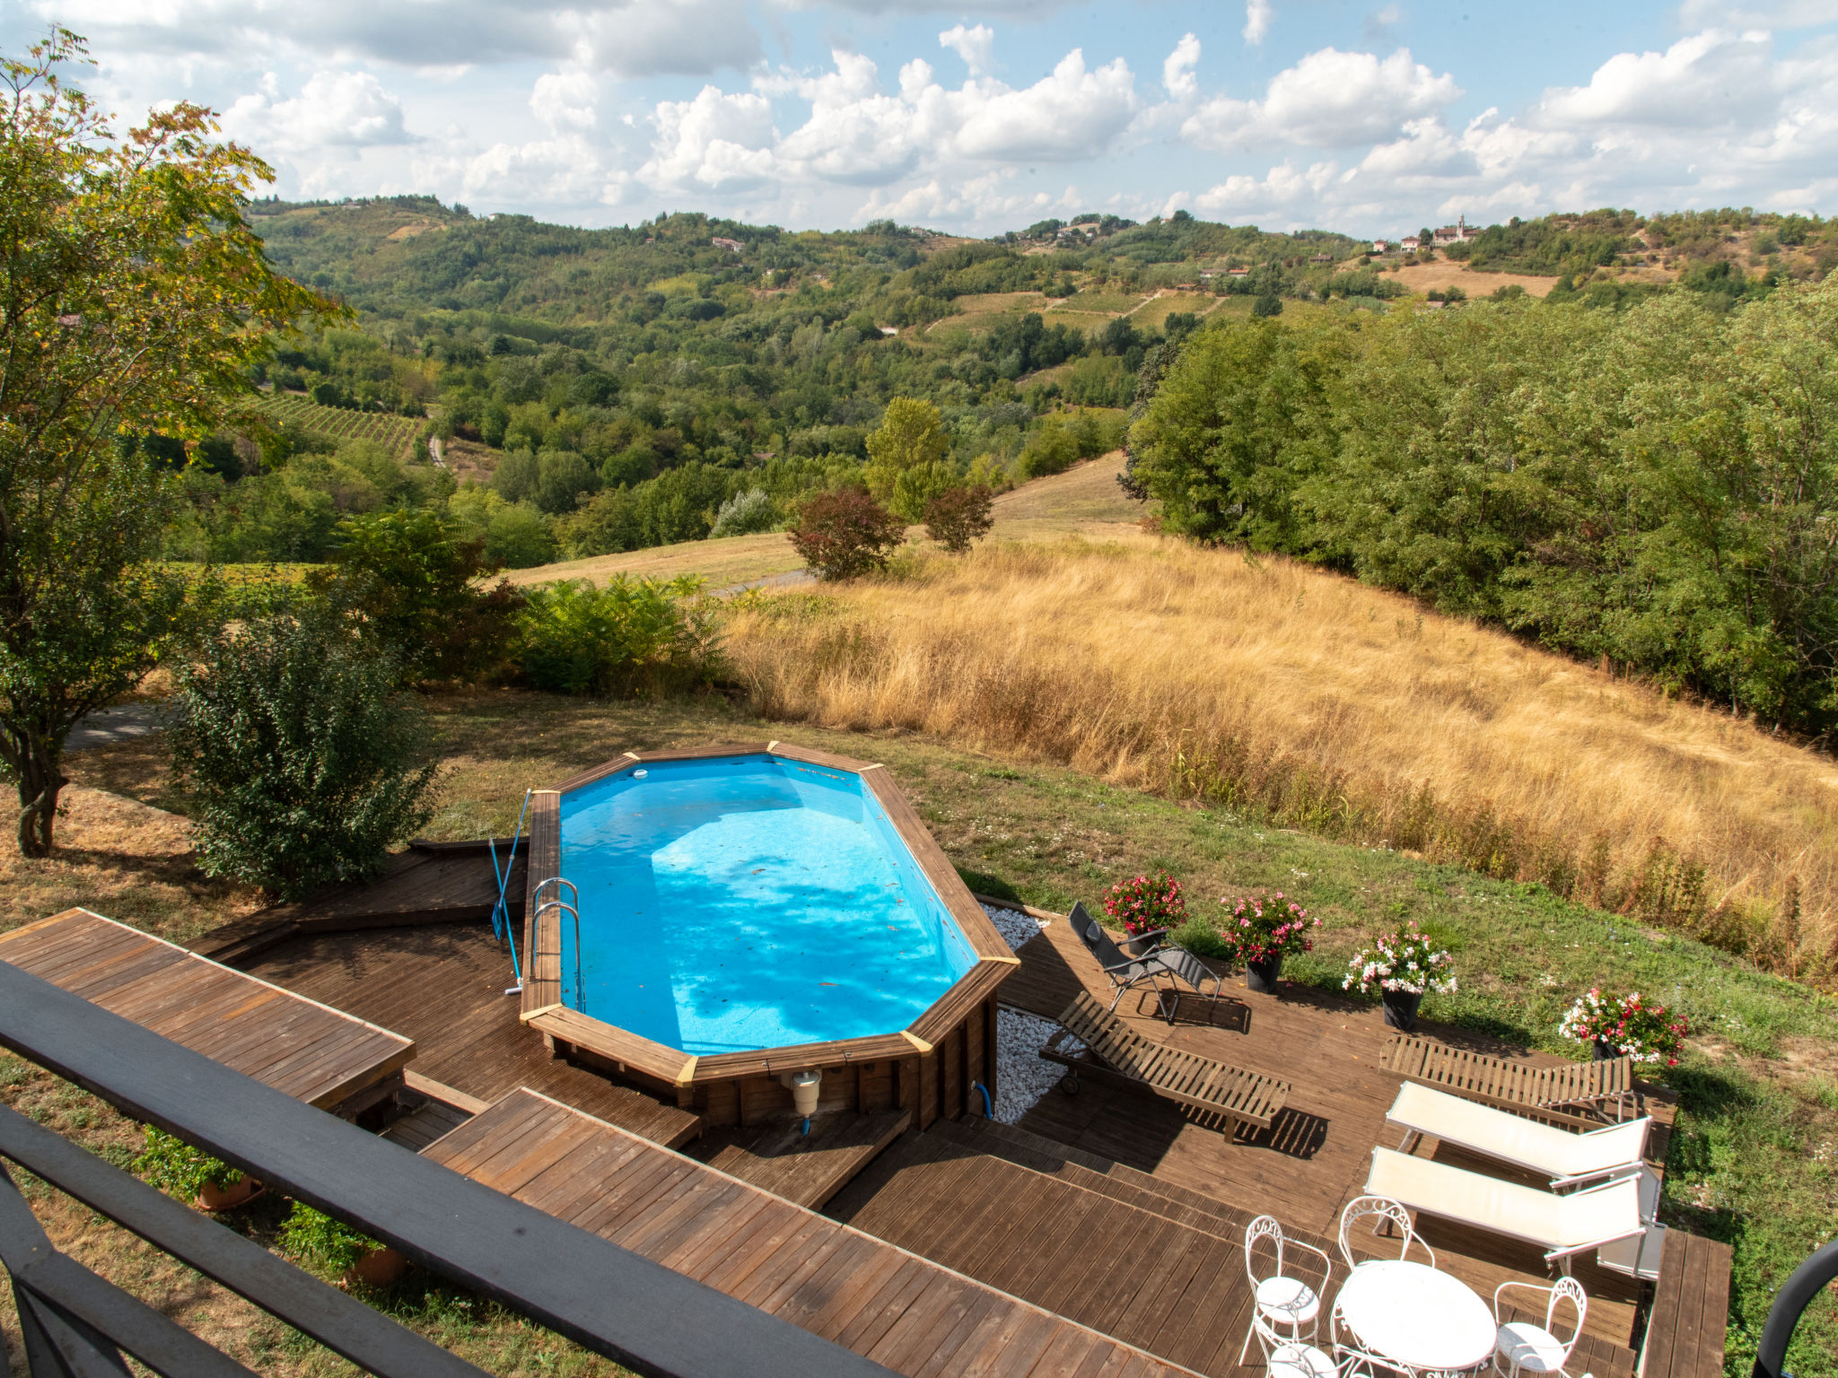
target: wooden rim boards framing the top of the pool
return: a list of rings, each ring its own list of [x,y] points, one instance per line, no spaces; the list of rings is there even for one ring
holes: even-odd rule
[[[943,900],[952,921],[963,930],[976,965],[965,972],[939,1000],[901,1031],[866,1038],[836,1038],[818,1044],[789,1044],[750,1053],[717,1053],[697,1056],[678,1047],[641,1038],[605,1020],[596,1020],[570,1009],[561,987],[561,911],[537,913],[537,887],[561,871],[561,797],[640,764],[656,761],[706,761],[715,757],[768,755],[796,761],[805,766],[836,770],[860,777],[888,814],[906,851],[919,864],[926,882]],[[879,1062],[880,1058],[930,1053],[943,1036],[965,1020],[978,1005],[994,994],[1016,966],[1007,941],[983,913],[970,887],[932,838],[925,821],[901,794],[880,762],[855,761],[816,751],[790,742],[737,742],[726,746],[698,746],[678,751],[627,751],[592,770],[570,775],[548,790],[529,796],[529,871],[524,891],[524,952],[526,972],[520,1018],[531,1029],[551,1038],[612,1060],[621,1071],[640,1073],[667,1086],[697,1086],[700,1082],[732,1080],[761,1073],[801,1071],[805,1067],[845,1066],[849,1062]]]

